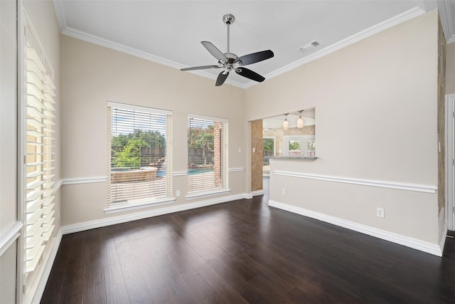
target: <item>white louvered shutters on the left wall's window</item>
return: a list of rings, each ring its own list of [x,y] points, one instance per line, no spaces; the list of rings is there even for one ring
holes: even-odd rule
[[[39,53],[39,55],[38,55]],[[55,86],[43,54],[26,48],[26,285],[33,279],[55,221],[53,177]]]

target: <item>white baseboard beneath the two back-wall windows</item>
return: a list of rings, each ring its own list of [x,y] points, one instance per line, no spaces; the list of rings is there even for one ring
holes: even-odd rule
[[[70,224],[62,227],[63,234],[73,234],[74,232],[85,231],[115,224],[125,223],[127,221],[136,221],[138,219],[146,219],[153,216],[160,216],[164,214],[171,214],[174,212],[186,211],[200,207],[210,206],[214,204],[221,204],[228,201],[235,201],[238,199],[249,199],[249,194],[234,194],[230,196],[223,196],[215,199],[208,199],[206,201],[197,201],[188,204],[179,204],[176,206],[166,206],[164,208],[141,211],[134,214],[124,214],[121,216],[112,216],[105,219],[96,219],[94,221],[85,221],[83,223]]]

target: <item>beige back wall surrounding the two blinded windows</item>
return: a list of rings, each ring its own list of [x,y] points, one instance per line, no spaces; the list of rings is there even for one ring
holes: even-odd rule
[[[215,88],[214,80],[67,36],[62,36],[60,48],[64,179],[106,177],[107,101],[173,111],[173,170],[177,172],[187,169],[188,113],[228,119],[228,165],[245,167],[245,118],[239,110],[242,89],[228,84]],[[230,195],[246,192],[244,175],[245,171],[230,173]],[[181,196],[175,204],[185,204],[185,176],[173,177],[173,194],[176,190]],[[107,218],[106,197],[105,182],[63,186],[63,225]]]

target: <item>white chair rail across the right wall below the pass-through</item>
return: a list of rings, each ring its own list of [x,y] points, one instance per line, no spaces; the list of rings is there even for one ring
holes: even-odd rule
[[[407,190],[414,192],[424,192],[424,193],[437,193],[437,187],[424,185],[424,184],[407,184],[407,183],[398,183],[398,182],[387,182],[373,179],[355,179],[351,177],[333,177],[329,175],[319,175],[319,174],[306,174],[301,172],[288,172],[281,170],[274,170],[274,174],[282,175],[285,177],[299,177],[303,179],[316,179],[326,182],[341,182],[345,184],[357,184],[362,186],[371,186],[371,187],[380,187],[380,188],[390,188],[390,189],[399,189]]]

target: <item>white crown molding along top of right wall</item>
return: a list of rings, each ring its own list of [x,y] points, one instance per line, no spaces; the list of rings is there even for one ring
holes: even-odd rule
[[[327,56],[330,53],[340,50],[341,48],[345,48],[346,46],[350,46],[353,43],[361,41],[365,38],[375,35],[376,33],[380,33],[381,31],[385,31],[387,28],[391,28],[393,26],[397,26],[400,23],[408,21],[410,19],[414,19],[417,16],[425,14],[423,9],[419,7],[414,7],[407,11],[398,14],[397,16],[393,16],[390,19],[382,21],[381,23],[375,24],[374,26],[370,26],[369,28],[365,28],[363,31],[355,33],[347,38],[344,38],[341,41],[331,44],[326,48],[322,48],[320,51],[316,51],[315,53],[311,53],[309,56],[299,59],[298,61],[294,61],[293,63],[289,63],[282,68],[274,70],[272,73],[268,73],[264,75],[265,78],[274,78],[275,76],[281,75],[282,73],[286,73],[289,70],[294,70],[294,68],[298,68],[300,65],[304,65],[305,63],[309,63],[316,59],[319,59],[323,56]],[[250,81],[245,84],[245,88],[250,88],[252,85],[257,84],[255,81]]]

